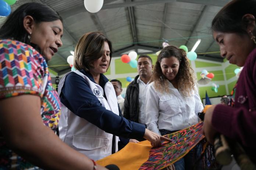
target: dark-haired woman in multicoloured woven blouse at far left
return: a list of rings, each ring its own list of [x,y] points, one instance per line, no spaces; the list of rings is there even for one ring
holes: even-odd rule
[[[18,7],[0,29],[0,169],[106,170],[54,133],[60,99],[47,61],[62,35],[60,15],[41,3]]]

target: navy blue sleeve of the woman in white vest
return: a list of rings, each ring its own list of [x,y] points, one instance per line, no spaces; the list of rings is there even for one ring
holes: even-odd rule
[[[75,115],[107,133],[124,138],[138,138],[145,134],[144,125],[131,122],[103,107],[97,97],[93,95],[89,84],[76,73],[66,76],[60,100]]]

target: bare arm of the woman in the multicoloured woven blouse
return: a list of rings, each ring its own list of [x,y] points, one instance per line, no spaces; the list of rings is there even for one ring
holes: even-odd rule
[[[29,162],[42,169],[93,169],[92,160],[69,147],[43,124],[38,95],[19,95],[0,100],[0,108],[0,129],[4,139]],[[97,169],[107,170],[98,164]]]

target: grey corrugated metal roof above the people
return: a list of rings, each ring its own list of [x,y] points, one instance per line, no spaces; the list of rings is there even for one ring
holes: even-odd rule
[[[228,2],[218,0],[218,4],[212,6],[208,1],[200,4],[200,0],[104,0],[103,9],[91,14],[86,11],[83,0],[19,0],[11,9],[31,1],[45,3],[63,16],[63,47],[48,63],[54,66],[53,70],[62,73],[70,70],[66,62],[69,51],[74,50],[78,39],[90,31],[106,33],[113,43],[114,56],[133,48],[157,51],[162,48],[162,38],[169,40],[171,45],[186,44],[189,49],[200,38],[197,53],[219,51],[210,25],[223,2]],[[4,20],[0,18],[0,25]],[[206,55],[220,58],[219,53]]]

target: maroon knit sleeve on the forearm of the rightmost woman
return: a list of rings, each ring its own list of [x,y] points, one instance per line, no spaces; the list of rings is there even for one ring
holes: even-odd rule
[[[227,137],[241,141],[245,146],[255,146],[256,141],[256,111],[246,108],[231,108],[217,105],[213,112],[211,123],[218,132]]]

